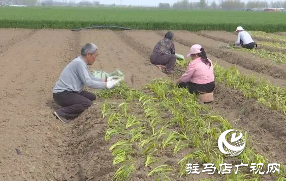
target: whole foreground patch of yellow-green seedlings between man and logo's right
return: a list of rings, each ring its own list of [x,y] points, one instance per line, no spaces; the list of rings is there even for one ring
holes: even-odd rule
[[[210,114],[206,107],[198,104],[195,95],[175,87],[167,80],[155,80],[147,88],[152,92],[146,94],[123,84],[101,94],[105,98],[117,96],[125,100],[118,106],[107,103],[102,106],[102,114],[108,117],[109,128],[105,139],[109,140],[112,135],[124,137],[110,148],[115,156],[113,165],[121,164],[113,179],[126,180],[136,170],[135,159],[132,157],[135,152],[137,157],[138,154],[145,155],[146,167],[154,165],[148,176],[157,175],[156,179],[167,180],[168,174],[176,171],[177,176],[187,175],[186,163],[214,163],[217,170],[220,170],[219,164],[224,163],[226,156],[218,151],[217,139],[221,132],[232,129],[230,123],[223,117]],[[134,101],[143,108],[144,117],[130,114],[134,112]],[[170,112],[172,118],[160,118],[160,113],[164,112]],[[244,137],[247,143],[247,135],[244,134]],[[238,158],[249,165],[264,163],[265,168],[265,158],[249,150],[247,145]],[[179,169],[176,166],[175,169],[171,168],[156,158],[158,153],[169,149],[173,150],[174,156],[179,152],[189,153],[178,160]],[[226,175],[226,180],[245,180],[250,177],[253,175],[240,170],[238,174]],[[254,179],[259,178],[259,174],[254,175]],[[281,178],[280,173],[277,179]]]

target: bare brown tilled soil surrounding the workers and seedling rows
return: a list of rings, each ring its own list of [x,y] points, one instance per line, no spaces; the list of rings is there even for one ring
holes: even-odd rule
[[[114,156],[109,148],[121,137],[104,140],[107,119],[102,117],[101,105],[107,99],[97,94],[93,106],[70,124],[63,125],[52,115],[53,109],[58,107],[52,98],[52,88],[62,68],[79,55],[81,46],[90,42],[99,47],[99,56],[91,70],[120,69],[128,86],[141,90],[155,78],[173,79],[149,62],[149,55],[164,32],[0,29],[0,106],[3,112],[0,117],[0,180],[111,180],[118,166],[112,165]],[[285,85],[286,66],[277,66],[272,60],[242,52],[221,50],[217,47],[218,41],[194,33],[175,31],[175,36],[179,54],[185,56],[190,45],[199,43],[206,47],[208,57],[220,66],[235,64],[241,73],[263,76],[273,84]],[[214,94],[215,101],[208,104],[209,108],[248,132],[249,147],[271,163],[286,162],[284,115],[222,84],[216,85]],[[120,103],[122,100],[114,97],[107,101]],[[133,106],[134,114],[142,115],[139,105]],[[162,152],[160,156],[164,159],[160,163],[177,169],[178,160],[191,151],[186,149],[176,156]],[[154,166],[145,167],[145,158],[139,154],[134,157],[139,164],[131,180],[155,180],[147,176]],[[199,178],[224,180],[208,174],[171,177],[172,180]]]

